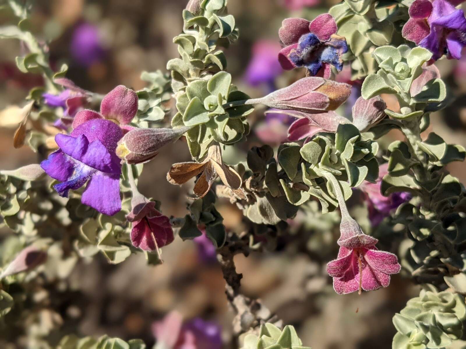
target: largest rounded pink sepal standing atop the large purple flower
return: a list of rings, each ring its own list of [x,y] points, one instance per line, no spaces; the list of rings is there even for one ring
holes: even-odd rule
[[[137,94],[133,90],[119,85],[103,97],[100,114],[105,119],[117,120],[128,125],[137,113]]]

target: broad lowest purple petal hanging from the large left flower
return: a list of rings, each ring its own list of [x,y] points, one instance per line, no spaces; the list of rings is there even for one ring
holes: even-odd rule
[[[81,201],[104,215],[115,215],[121,210],[120,175],[97,171],[82,193]]]

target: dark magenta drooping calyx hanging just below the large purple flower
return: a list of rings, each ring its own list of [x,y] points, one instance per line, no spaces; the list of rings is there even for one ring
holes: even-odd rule
[[[126,219],[132,223],[131,243],[144,251],[158,251],[174,240],[170,218],[155,206],[156,202],[149,201],[133,188],[132,208]]]

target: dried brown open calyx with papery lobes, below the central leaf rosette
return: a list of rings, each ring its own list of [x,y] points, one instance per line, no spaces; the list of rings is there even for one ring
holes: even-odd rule
[[[180,162],[173,164],[167,173],[167,180],[171,184],[181,185],[201,173],[202,175],[196,181],[193,189],[196,199],[204,197],[209,192],[217,177],[220,177],[222,182],[235,193],[240,189],[242,184],[241,176],[233,168],[223,163],[221,150],[218,145],[212,145],[209,148],[206,160],[203,162]]]

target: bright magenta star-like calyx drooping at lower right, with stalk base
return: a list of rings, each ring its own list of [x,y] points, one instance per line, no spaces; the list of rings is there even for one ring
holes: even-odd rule
[[[350,217],[342,216],[340,234],[338,258],[327,264],[336,293],[345,295],[359,290],[361,294],[362,290],[387,287],[390,275],[401,269],[397,256],[379,251],[375,247],[378,240],[365,235]]]

